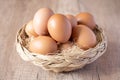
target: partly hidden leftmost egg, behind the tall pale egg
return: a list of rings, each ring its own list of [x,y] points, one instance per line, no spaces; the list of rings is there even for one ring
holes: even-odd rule
[[[25,27],[25,32],[27,33],[27,35],[29,37],[34,36],[37,37],[37,33],[35,33],[34,29],[33,29],[33,22],[32,20],[28,22],[28,24]]]

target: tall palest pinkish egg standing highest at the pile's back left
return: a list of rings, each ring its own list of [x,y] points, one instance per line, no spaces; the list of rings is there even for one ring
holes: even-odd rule
[[[47,35],[48,19],[53,15],[53,11],[49,8],[39,9],[33,18],[33,28],[38,35]]]

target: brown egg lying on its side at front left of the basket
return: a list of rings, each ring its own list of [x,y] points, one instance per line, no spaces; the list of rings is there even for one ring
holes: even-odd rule
[[[57,44],[49,36],[39,36],[30,42],[29,50],[43,55],[54,54]]]

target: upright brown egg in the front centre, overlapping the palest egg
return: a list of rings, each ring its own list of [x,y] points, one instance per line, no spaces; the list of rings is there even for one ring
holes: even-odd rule
[[[71,36],[72,27],[64,15],[54,14],[48,21],[48,31],[53,39],[65,43]]]

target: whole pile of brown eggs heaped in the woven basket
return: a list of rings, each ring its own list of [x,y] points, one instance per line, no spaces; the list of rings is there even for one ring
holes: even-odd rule
[[[27,23],[25,32],[29,37],[34,37],[29,42],[29,50],[47,55],[54,54],[59,49],[59,45],[61,49],[73,45],[83,50],[95,47],[97,44],[93,32],[95,27],[94,18],[88,12],[81,12],[74,16],[41,8],[35,13],[33,20]]]

